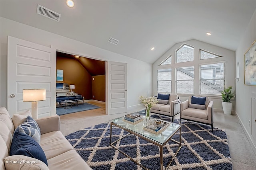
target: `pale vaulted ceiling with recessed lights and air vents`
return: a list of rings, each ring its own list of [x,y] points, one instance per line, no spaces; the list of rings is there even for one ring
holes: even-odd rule
[[[0,16],[153,63],[174,44],[197,39],[235,51],[255,0],[1,0]],[[61,14],[54,21],[37,5]],[[206,31],[212,35],[206,35]],[[113,37],[117,45],[108,42]],[[155,49],[151,51],[150,49]]]

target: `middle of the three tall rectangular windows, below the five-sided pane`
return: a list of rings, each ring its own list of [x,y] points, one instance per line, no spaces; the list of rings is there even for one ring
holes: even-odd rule
[[[176,93],[194,94],[194,66],[176,68]]]

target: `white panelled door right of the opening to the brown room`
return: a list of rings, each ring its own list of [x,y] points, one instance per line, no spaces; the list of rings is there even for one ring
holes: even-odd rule
[[[127,112],[127,63],[108,62],[108,114]]]

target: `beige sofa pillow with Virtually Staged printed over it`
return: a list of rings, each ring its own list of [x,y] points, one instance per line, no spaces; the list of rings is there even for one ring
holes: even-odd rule
[[[16,164],[11,161],[19,161],[20,163]],[[4,165],[6,170],[49,170],[48,166],[41,160],[24,155],[6,157],[4,158]]]

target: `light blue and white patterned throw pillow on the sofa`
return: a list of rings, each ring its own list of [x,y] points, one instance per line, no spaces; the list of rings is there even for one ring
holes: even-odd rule
[[[31,116],[28,116],[24,121],[24,123],[20,124],[15,129],[15,131],[30,135],[37,143],[40,143],[40,140],[41,140],[40,128],[36,123],[36,121]]]

